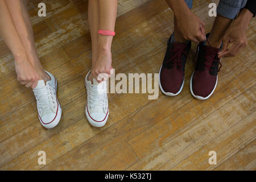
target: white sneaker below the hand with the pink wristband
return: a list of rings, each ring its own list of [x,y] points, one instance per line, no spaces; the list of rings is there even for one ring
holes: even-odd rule
[[[85,77],[85,87],[87,90],[85,115],[92,126],[102,127],[109,117],[106,81],[102,81],[100,84],[92,84],[92,82],[87,79],[89,73],[87,73]]]

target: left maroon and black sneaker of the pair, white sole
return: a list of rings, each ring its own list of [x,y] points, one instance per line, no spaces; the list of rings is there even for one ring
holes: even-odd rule
[[[166,55],[159,71],[159,87],[167,96],[177,96],[183,89],[185,63],[191,49],[189,43],[167,43]]]

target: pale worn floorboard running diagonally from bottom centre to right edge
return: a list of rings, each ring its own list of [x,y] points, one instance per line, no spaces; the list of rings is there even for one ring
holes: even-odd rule
[[[254,89],[255,85],[247,89],[246,92],[251,93]],[[254,94],[250,94],[250,97],[254,98]],[[139,160],[137,164],[134,164],[134,166],[129,169],[171,169],[182,160],[188,158],[191,153],[193,154],[199,150],[199,148],[208,145],[211,140],[230,129],[230,127],[240,122],[246,115],[254,111],[254,102],[247,99],[243,94],[240,94],[232,101],[220,107],[220,109],[208,115],[208,117],[200,119],[200,121],[197,122],[196,125],[191,126],[189,130],[183,131],[177,135],[176,138],[170,140],[170,142],[159,146],[155,151],[152,150],[153,152],[151,154]],[[250,127],[251,126],[252,125],[250,125]],[[251,133],[254,135],[254,132],[250,132],[250,134]]]

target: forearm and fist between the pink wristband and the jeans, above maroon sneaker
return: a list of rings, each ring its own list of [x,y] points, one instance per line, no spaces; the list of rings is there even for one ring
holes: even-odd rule
[[[206,40],[204,22],[189,10],[184,0],[166,0],[174,12],[175,26],[186,40],[203,42]]]

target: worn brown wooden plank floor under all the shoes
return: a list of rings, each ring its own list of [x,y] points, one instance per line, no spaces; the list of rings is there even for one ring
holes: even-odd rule
[[[222,59],[218,85],[208,100],[189,92],[196,44],[192,43],[184,89],[176,97],[160,93],[109,94],[110,117],[98,129],[85,117],[84,77],[89,71],[88,2],[47,0],[47,16],[38,3],[27,4],[36,47],[44,68],[58,80],[61,121],[51,130],[38,120],[31,89],[16,80],[13,56],[0,39],[0,169],[227,170],[256,169],[255,43],[256,19],[247,29],[248,46]],[[210,0],[197,0],[193,12],[210,31]],[[214,1],[217,2],[217,1]],[[113,67],[116,73],[158,73],[173,14],[164,0],[119,0]],[[38,152],[46,152],[46,165]],[[210,165],[209,151],[217,152]]]

